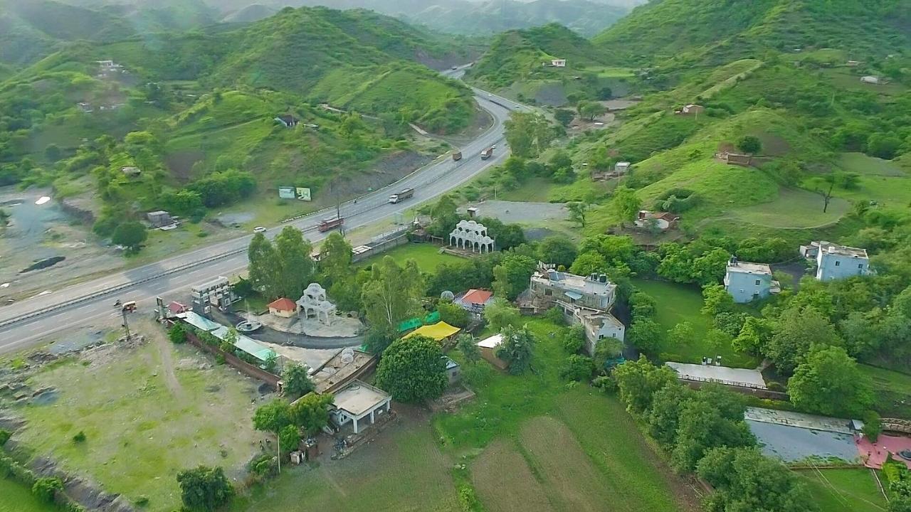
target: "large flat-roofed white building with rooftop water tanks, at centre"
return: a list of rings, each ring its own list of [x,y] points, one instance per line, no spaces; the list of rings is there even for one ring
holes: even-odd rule
[[[553,265],[539,262],[520,307],[526,312],[560,308],[568,322],[585,327],[586,349],[594,354],[595,345],[601,339],[623,341],[625,327],[610,314],[616,299],[617,285],[609,282],[605,274],[583,277],[556,271]]]

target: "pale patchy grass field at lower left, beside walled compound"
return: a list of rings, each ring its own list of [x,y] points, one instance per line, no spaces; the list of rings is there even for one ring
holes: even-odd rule
[[[17,438],[108,492],[145,496],[148,510],[169,512],[179,504],[181,469],[206,464],[242,476],[259,449],[250,420],[258,383],[224,366],[200,369],[205,360],[194,349],[171,345],[151,323],[139,332],[160,337],[36,374],[29,384],[54,387],[58,398],[16,409],[27,421]],[[80,431],[87,441],[76,444]]]

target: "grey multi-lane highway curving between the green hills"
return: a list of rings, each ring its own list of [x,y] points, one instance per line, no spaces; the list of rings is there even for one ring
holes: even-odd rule
[[[461,73],[462,68],[459,68],[445,75],[460,77]],[[444,155],[404,179],[358,198],[356,203],[344,203],[341,214],[346,230],[391,218],[432,200],[507,158],[503,125],[509,112],[522,109],[522,106],[486,91],[475,89],[475,93],[478,105],[491,114],[494,122],[483,134],[460,148],[464,158],[455,162]],[[494,157],[481,160],[480,152],[492,145],[496,145]],[[388,202],[391,193],[405,188],[415,189],[413,199],[398,204]],[[292,225],[303,230],[310,241],[322,241],[329,233],[315,230],[315,225],[334,216],[334,209],[318,211],[272,227],[266,235],[273,237],[284,226]],[[149,311],[155,305],[156,296],[173,295],[220,275],[241,271],[247,266],[246,248],[251,238],[252,233],[0,308],[0,353],[22,350],[67,329],[107,321],[117,314],[113,307],[117,299],[137,301],[140,311]]]

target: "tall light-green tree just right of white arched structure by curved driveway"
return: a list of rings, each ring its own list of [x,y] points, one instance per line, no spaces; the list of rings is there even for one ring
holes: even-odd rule
[[[423,295],[424,283],[417,263],[408,260],[401,267],[391,256],[385,256],[383,261],[374,263],[361,298],[372,326],[394,330],[415,314]]]

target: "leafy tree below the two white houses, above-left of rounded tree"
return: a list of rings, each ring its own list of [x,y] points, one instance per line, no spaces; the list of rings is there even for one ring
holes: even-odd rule
[[[842,340],[832,323],[814,307],[785,310],[775,324],[772,338],[764,353],[779,372],[788,374],[804,361],[814,345],[841,345]]]

